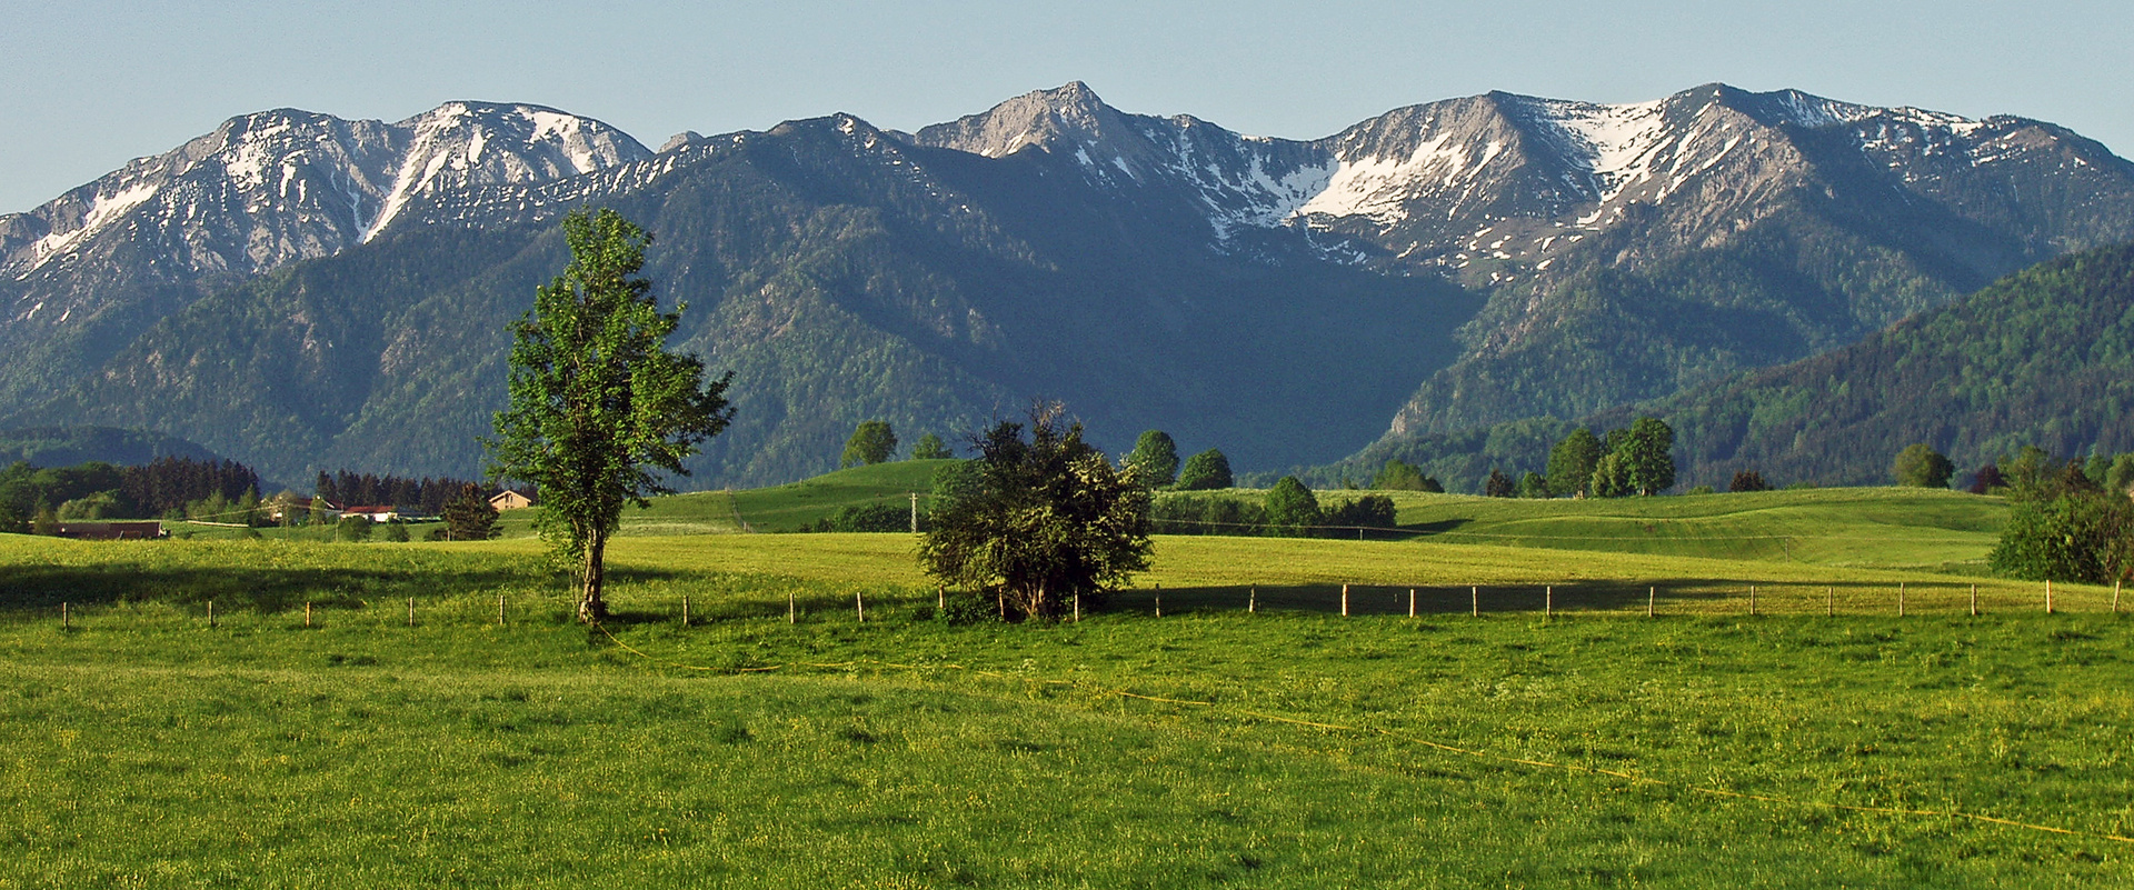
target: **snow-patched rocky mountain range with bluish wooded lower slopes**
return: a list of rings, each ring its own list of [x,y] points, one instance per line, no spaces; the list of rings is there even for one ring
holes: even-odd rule
[[[1031,397],[1244,467],[1662,399],[2130,241],[2134,164],[2023,117],[1726,85],[1315,141],[1082,83],[659,152],[531,105],[269,111],[0,218],[0,423],[162,429],[284,480],[476,474],[506,324],[585,205],[655,233],[679,346],[736,371],[694,484],[760,484],[862,418],[954,440]]]

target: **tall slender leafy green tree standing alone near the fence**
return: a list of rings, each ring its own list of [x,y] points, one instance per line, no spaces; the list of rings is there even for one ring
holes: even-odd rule
[[[570,265],[514,327],[510,408],[497,412],[489,472],[540,487],[536,527],[578,574],[578,621],[606,617],[604,555],[623,504],[672,493],[659,472],[726,429],[732,374],[666,350],[683,305],[659,312],[638,277],[653,237],[612,209],[563,218]]]

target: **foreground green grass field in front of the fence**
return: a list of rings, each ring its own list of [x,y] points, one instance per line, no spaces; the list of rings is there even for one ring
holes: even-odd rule
[[[414,627],[11,613],[0,886],[2134,879],[2096,837],[2134,832],[2134,634],[2102,613],[681,627],[623,600],[610,640],[487,593]]]

